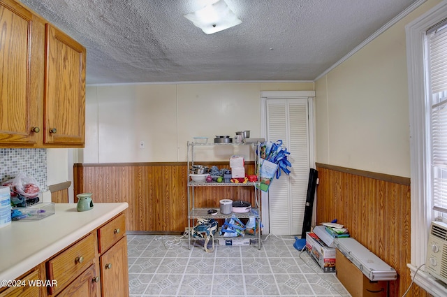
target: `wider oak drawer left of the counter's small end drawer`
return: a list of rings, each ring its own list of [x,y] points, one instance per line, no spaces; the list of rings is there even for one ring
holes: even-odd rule
[[[47,278],[57,281],[57,287],[48,287],[48,294],[56,294],[63,289],[66,284],[87,269],[91,263],[94,263],[94,259],[95,238],[94,233],[89,233],[88,236],[47,261]]]

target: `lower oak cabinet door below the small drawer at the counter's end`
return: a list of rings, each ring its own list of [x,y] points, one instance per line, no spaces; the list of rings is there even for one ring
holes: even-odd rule
[[[129,296],[129,267],[127,266],[126,240],[126,236],[124,236],[101,256],[102,296]]]

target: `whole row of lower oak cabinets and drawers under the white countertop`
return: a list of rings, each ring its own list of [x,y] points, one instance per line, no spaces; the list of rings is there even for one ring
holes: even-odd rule
[[[129,297],[125,222],[120,213],[11,282],[14,287],[0,287],[0,297]]]

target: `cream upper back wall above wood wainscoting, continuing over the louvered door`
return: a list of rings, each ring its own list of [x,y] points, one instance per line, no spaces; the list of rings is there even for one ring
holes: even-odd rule
[[[312,82],[210,82],[88,86],[85,149],[77,162],[186,161],[193,136],[261,135],[261,91],[312,90]],[[140,149],[140,141],[145,148]],[[228,156],[226,156],[228,157]]]

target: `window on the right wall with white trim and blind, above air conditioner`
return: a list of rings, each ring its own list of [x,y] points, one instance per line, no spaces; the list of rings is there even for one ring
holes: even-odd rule
[[[447,1],[406,25],[411,151],[412,275],[425,263],[430,223],[447,214]],[[444,43],[439,42],[444,40]],[[443,57],[444,56],[444,57]],[[440,59],[440,57],[442,57]],[[416,284],[435,296],[446,289],[420,270]]]

